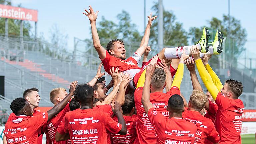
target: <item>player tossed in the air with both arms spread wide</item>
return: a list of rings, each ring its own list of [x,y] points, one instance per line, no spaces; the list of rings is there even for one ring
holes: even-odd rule
[[[144,36],[142,38],[140,47],[136,50],[136,52],[126,59],[126,50],[124,48],[124,41],[120,39],[113,39],[111,40],[108,44],[106,49],[101,46],[100,44],[100,39],[97,33],[96,29],[96,19],[98,16],[98,12],[96,13],[93,11],[92,7],[90,6],[89,11],[85,10],[86,16],[88,16],[91,24],[91,29],[92,29],[92,40],[93,40],[93,45],[94,48],[96,49],[97,53],[99,54],[99,58],[103,62],[104,69],[105,71],[109,73],[109,69],[114,67],[118,67],[120,71],[123,72],[128,72],[130,76],[132,76],[133,80],[130,81],[129,86],[130,88],[136,89],[137,87],[137,82],[139,80],[140,75],[143,72],[143,69],[138,67],[138,62],[141,59],[142,54],[145,52],[148,41],[149,41],[149,34],[150,34],[150,27],[152,25],[152,21],[156,19],[157,16],[151,17],[148,16],[148,24],[144,33]],[[207,52],[208,51],[208,37],[209,37],[209,31],[207,28],[204,28],[203,31],[203,36],[201,40],[198,42],[198,46],[201,48],[202,52]],[[172,76],[176,73],[176,69],[179,64],[179,59],[182,55],[183,49],[185,49],[186,54],[190,55],[190,48],[191,46],[185,46],[185,47],[176,47],[176,48],[163,48],[157,55],[159,56],[158,61],[160,62],[161,60],[165,60],[166,63],[169,63],[171,60],[170,64],[170,70],[172,73]],[[149,60],[150,61],[150,60]],[[147,65],[147,64],[146,64]],[[145,67],[145,66],[144,66]]]

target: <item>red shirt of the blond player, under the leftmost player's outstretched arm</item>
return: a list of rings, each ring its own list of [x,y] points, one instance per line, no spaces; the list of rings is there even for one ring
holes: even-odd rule
[[[65,108],[60,111],[59,114],[55,115],[52,119],[50,119],[48,122],[47,122],[47,133],[48,134],[48,138],[50,138],[50,143],[51,144],[66,144],[67,142],[66,141],[59,141],[59,142],[56,142],[55,140],[55,134],[57,132],[57,128],[58,126],[60,125],[61,123],[61,120],[63,119],[63,117],[65,116],[65,114],[67,112],[69,112],[70,109],[69,109],[69,103],[65,106]]]

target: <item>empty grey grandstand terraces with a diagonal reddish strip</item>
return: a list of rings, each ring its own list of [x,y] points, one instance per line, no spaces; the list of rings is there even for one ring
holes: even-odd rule
[[[64,87],[68,91],[72,81],[90,81],[97,72],[78,64],[52,59],[39,52],[28,51],[26,58],[18,62],[15,51],[10,50],[10,54],[11,60],[4,57],[0,60],[0,75],[5,76],[5,97],[10,100],[22,97],[25,89],[37,87],[41,97],[39,106],[52,106],[49,93],[53,88]],[[10,104],[0,100],[2,103],[5,103],[2,107],[10,112]]]

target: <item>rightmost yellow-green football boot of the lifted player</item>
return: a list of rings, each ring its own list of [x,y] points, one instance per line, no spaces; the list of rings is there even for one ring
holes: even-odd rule
[[[222,52],[222,43],[223,43],[223,33],[220,30],[217,30],[215,39],[212,43],[213,54],[218,55]]]

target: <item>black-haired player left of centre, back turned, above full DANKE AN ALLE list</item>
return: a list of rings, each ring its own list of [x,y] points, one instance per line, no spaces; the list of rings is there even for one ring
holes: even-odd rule
[[[56,141],[70,137],[72,143],[106,144],[108,132],[122,135],[127,133],[119,102],[115,102],[113,108],[118,117],[117,123],[108,114],[93,109],[93,88],[90,85],[78,85],[74,93],[80,102],[80,109],[66,113],[55,135]]]

